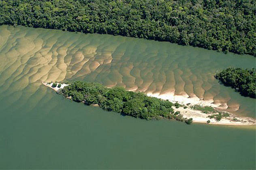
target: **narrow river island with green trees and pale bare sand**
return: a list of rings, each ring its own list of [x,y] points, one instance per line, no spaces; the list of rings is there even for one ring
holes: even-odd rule
[[[252,125],[252,118],[241,118],[232,113],[218,111],[211,106],[172,103],[166,96],[161,99],[151,94],[126,90],[123,87],[108,88],[95,82],[51,82],[43,84],[67,99],[85,105],[98,106],[106,111],[115,111],[146,120],[169,119],[191,124],[192,122],[223,125]]]

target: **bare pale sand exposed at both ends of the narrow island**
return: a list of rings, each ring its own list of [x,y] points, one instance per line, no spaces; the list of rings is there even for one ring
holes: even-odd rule
[[[57,86],[55,88],[52,87],[53,83],[47,84],[46,82],[42,82],[43,85],[55,90],[58,92],[60,89],[64,88],[65,86],[68,86],[68,84],[61,84],[61,87],[58,88],[58,84],[56,83]],[[134,91],[136,89],[130,89],[129,91]],[[223,107],[221,104],[213,104],[213,101],[203,101],[202,99],[192,97],[189,98],[187,96],[180,96],[180,95],[174,95],[174,93],[166,93],[166,94],[159,94],[159,93],[147,93],[147,96],[149,97],[156,97],[158,99],[164,99],[164,100],[169,100],[172,103],[179,103],[181,105],[201,105],[201,106],[211,106],[214,108],[219,108],[219,109],[226,109]],[[254,125],[256,124],[256,120],[253,118],[248,118],[248,117],[239,117],[237,115],[234,115],[232,113],[229,113],[230,116],[227,118],[222,118],[220,121],[215,120],[214,118],[210,119],[208,118],[209,115],[207,113],[203,113],[199,110],[194,110],[191,109],[190,107],[187,107],[184,109],[183,107],[175,108],[173,107],[173,110],[179,111],[181,115],[183,115],[183,118],[192,118],[193,122],[196,123],[207,123],[209,120],[209,124],[216,124],[216,125],[233,125],[233,126],[249,126],[249,125]],[[233,118],[236,118],[236,121],[233,120]]]

